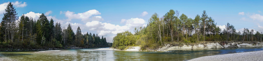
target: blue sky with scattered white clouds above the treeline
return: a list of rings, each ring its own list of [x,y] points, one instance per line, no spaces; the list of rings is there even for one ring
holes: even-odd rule
[[[262,0],[2,0],[0,18],[8,2],[14,4],[18,16],[25,14],[38,19],[44,13],[48,20],[52,18],[65,28],[70,24],[75,32],[79,26],[83,34],[95,33],[106,37],[107,42],[112,42],[119,32],[134,33],[135,27],[147,25],[152,14],[162,17],[170,9],[192,19],[206,10],[222,30],[230,23],[241,33],[244,28],[263,31]]]

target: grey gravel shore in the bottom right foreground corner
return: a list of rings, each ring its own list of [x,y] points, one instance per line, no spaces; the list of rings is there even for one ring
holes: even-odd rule
[[[263,51],[204,56],[188,61],[263,61]]]

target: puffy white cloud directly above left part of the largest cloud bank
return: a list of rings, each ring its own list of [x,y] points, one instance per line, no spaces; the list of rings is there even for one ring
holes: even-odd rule
[[[61,13],[61,12],[60,12]],[[84,13],[78,13],[74,14],[74,12],[67,11],[64,13],[66,17],[68,17],[68,21],[71,21],[72,19],[81,19],[82,21],[89,21],[90,16],[92,15],[100,15],[99,11],[93,9],[89,10]]]

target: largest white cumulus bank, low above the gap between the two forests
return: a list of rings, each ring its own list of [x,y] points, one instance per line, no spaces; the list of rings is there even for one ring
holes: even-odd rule
[[[85,28],[90,31],[96,31],[100,36],[106,36],[108,42],[112,42],[112,38],[120,32],[132,31],[135,27],[145,26],[145,20],[140,18],[122,19],[124,26],[114,25],[110,23],[102,23],[100,21],[90,21],[85,24]]]

